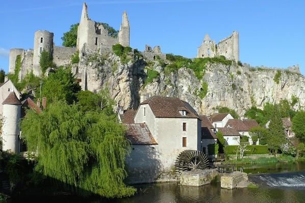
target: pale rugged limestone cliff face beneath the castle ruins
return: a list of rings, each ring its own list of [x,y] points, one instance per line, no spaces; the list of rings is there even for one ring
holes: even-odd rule
[[[299,98],[295,109],[305,105],[305,78],[297,72],[297,66],[276,69],[207,63],[202,72],[204,77],[198,80],[189,68],[167,72],[162,63],[146,62],[138,56],[132,56],[126,64],[114,54],[90,57],[82,58],[78,67],[83,75],[83,89],[96,92],[107,86],[118,106],[124,109],[136,109],[142,93],[180,97],[202,114],[212,114],[214,107],[225,106],[243,115],[253,105],[262,108],[266,102],[290,101],[292,95]],[[144,84],[148,75],[145,67],[158,72],[147,84]],[[274,81],[277,70],[281,72],[278,83]],[[198,91],[202,82],[208,84],[208,92],[201,99]]]

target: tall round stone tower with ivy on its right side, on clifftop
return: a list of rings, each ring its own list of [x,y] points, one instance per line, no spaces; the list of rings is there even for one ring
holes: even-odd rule
[[[41,69],[39,65],[40,53],[43,49],[52,57],[53,55],[53,37],[54,34],[46,30],[38,30],[34,35],[34,53],[33,53],[33,73],[35,75],[41,75]]]

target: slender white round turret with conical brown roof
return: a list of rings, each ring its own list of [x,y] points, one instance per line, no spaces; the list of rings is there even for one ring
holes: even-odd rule
[[[3,126],[2,143],[3,150],[10,150],[13,153],[19,153],[19,121],[21,115],[21,103],[15,92],[12,91],[4,100],[3,104]]]

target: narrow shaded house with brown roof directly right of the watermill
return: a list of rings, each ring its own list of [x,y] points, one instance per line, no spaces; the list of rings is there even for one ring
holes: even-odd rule
[[[199,118],[201,119],[201,150],[209,155],[208,145],[217,143],[216,129],[206,115],[199,115]]]

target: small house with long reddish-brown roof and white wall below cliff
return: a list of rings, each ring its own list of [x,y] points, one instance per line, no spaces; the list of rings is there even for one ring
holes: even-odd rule
[[[259,141],[253,142],[249,134],[251,128],[259,126],[256,120],[253,119],[229,119],[225,124],[225,128],[234,128],[241,136],[247,136],[249,138],[249,144],[259,144]]]

